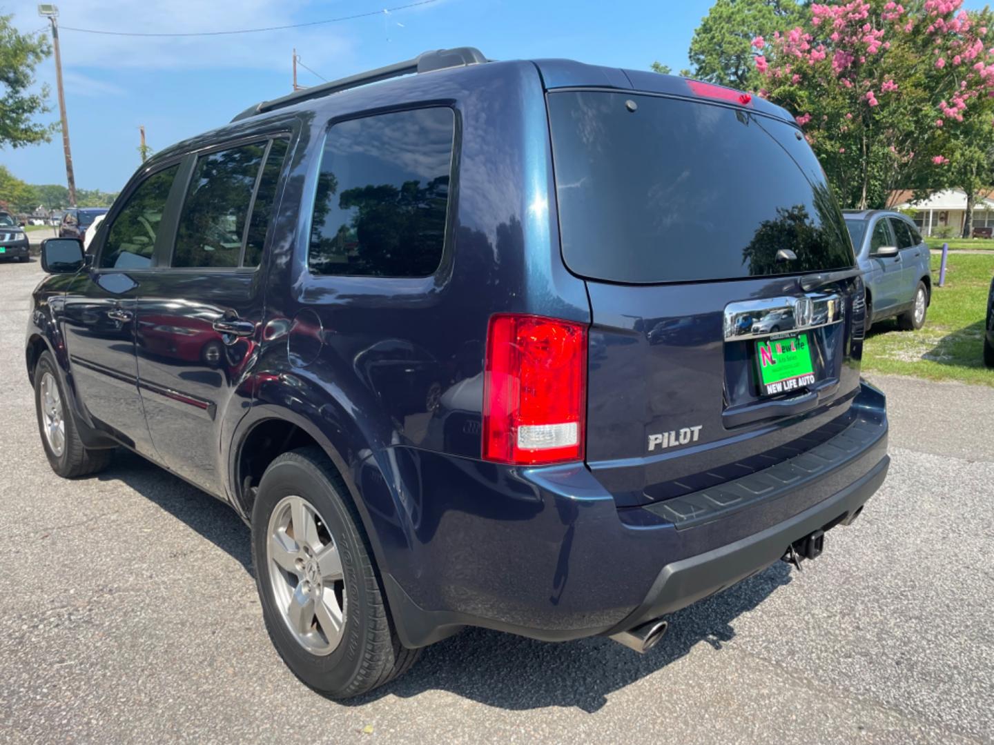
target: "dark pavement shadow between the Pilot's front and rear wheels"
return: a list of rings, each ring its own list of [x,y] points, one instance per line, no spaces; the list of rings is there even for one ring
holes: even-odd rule
[[[120,481],[238,559],[251,574],[248,526],[231,507],[130,450],[118,448],[100,481]]]

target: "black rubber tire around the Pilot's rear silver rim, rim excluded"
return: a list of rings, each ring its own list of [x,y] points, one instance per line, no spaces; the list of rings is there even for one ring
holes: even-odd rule
[[[317,510],[341,557],[345,623],[338,646],[324,656],[305,649],[287,628],[270,580],[269,520],[289,496],[302,497]],[[266,631],[286,666],[307,685],[332,698],[349,698],[414,665],[420,650],[405,648],[394,631],[369,537],[345,484],[319,448],[284,453],[265,470],[252,506],[251,553]]]

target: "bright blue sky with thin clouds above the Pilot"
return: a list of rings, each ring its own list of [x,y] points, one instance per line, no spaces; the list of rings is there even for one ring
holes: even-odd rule
[[[410,0],[64,0],[60,24],[112,31],[223,31],[377,11]],[[709,0],[435,0],[389,15],[304,29],[186,39],[61,33],[77,186],[118,191],[138,166],[138,125],[164,148],[227,122],[251,103],[290,91],[291,50],[327,78],[414,57],[428,49],[475,46],[494,59],[566,57],[645,69],[658,60],[688,67],[687,48]],[[0,0],[21,31],[44,28],[36,3]],[[52,82],[46,61],[39,79]],[[320,82],[299,71],[301,84]],[[62,139],[0,150],[0,163],[34,184],[64,184]]]

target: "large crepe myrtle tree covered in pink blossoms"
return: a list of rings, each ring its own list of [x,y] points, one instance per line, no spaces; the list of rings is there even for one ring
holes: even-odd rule
[[[929,179],[946,185],[935,174],[950,128],[994,95],[990,14],[961,5],[813,3],[803,27],[752,40],[759,95],[796,113],[844,206],[885,207],[894,189]]]

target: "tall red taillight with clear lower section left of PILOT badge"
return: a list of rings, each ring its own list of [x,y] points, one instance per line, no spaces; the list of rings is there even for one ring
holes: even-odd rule
[[[586,327],[496,315],[486,355],[483,458],[522,465],[582,460]]]

